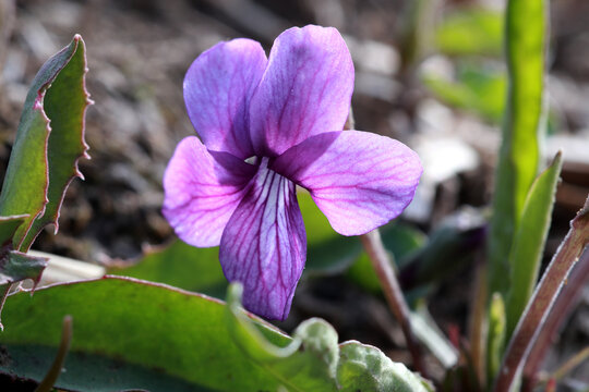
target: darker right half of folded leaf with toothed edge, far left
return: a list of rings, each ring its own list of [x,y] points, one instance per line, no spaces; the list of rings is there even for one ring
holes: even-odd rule
[[[68,62],[52,79],[47,89],[43,106],[49,118],[50,133],[47,145],[49,171],[48,203],[21,244],[21,249],[28,249],[37,234],[47,224],[55,224],[58,231],[59,210],[65,191],[74,177],[82,177],[77,169],[80,158],[88,158],[88,146],[84,140],[84,123],[89,105],[86,91],[86,48],[81,36],[63,49],[71,52]]]

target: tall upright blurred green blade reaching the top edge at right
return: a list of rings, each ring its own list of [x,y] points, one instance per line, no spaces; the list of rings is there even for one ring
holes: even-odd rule
[[[509,0],[505,14],[508,93],[489,238],[490,292],[505,295],[507,262],[526,197],[539,167],[544,132],[544,0]]]

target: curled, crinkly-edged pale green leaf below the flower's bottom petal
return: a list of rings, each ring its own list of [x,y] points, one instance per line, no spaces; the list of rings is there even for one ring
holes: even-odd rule
[[[239,308],[241,286],[229,289],[228,329],[243,352],[288,391],[431,391],[431,387],[380,350],[358,342],[337,345],[321,319],[303,321],[288,346],[267,341]]]

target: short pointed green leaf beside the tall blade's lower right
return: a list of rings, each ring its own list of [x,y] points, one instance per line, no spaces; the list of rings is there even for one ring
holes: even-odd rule
[[[512,284],[507,295],[507,339],[512,335],[538,281],[561,168],[562,155],[558,152],[552,164],[532,184],[524,207],[509,257],[512,282],[517,284]]]

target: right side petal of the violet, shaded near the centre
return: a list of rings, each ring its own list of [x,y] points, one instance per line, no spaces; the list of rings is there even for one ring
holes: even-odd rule
[[[368,233],[401,213],[422,172],[409,147],[360,131],[312,136],[271,168],[308,188],[334,230],[344,235]]]

